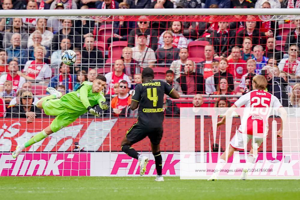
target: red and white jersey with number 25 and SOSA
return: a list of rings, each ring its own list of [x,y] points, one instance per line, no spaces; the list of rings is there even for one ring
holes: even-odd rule
[[[268,133],[270,108],[274,108],[277,111],[279,107],[282,107],[277,97],[262,90],[253,90],[244,94],[234,105],[236,107],[245,106],[238,131],[258,137],[266,136]],[[255,128],[253,129],[253,127]]]

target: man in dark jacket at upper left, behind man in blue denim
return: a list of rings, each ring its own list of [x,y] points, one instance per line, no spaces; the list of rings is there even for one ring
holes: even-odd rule
[[[27,40],[28,40],[28,32],[24,26],[22,26],[22,19],[21,18],[13,18],[13,25],[9,30],[5,31],[3,35],[2,46],[4,49],[12,46],[12,37],[14,34],[19,34],[20,36],[20,48],[26,49],[27,47]],[[27,57],[27,56],[26,56]],[[27,59],[27,58],[26,58]]]

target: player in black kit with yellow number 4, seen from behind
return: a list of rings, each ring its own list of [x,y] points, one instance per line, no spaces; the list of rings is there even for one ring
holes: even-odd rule
[[[157,171],[155,181],[164,181],[161,174],[162,157],[159,147],[163,136],[164,94],[169,95],[173,99],[179,99],[180,96],[168,83],[154,81],[153,78],[153,70],[150,67],[146,67],[142,72],[143,83],[135,87],[130,104],[131,110],[135,110],[139,106],[138,121],[128,130],[121,143],[121,149],[130,157],[140,161],[140,175],[142,176],[146,172],[149,158],[140,155],[131,145],[148,136],[151,141],[152,154],[155,158]]]

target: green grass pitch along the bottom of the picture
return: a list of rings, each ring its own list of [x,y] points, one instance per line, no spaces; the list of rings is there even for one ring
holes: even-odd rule
[[[180,180],[165,177],[0,177],[0,199],[300,199],[299,180]]]

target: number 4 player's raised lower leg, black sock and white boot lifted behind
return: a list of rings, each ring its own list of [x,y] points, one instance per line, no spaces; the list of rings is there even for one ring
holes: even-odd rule
[[[121,142],[121,150],[128,154],[128,156],[140,161],[140,175],[143,176],[146,172],[146,166],[149,162],[149,158],[139,154],[134,148],[131,147],[131,145],[133,144],[125,136]]]

